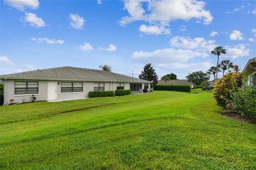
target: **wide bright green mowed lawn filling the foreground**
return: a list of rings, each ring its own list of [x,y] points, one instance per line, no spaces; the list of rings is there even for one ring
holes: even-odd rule
[[[256,169],[256,126],[212,93],[0,107],[2,169]]]

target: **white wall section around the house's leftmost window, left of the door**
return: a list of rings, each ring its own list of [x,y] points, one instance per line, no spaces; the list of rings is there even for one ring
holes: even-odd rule
[[[35,94],[36,101],[39,100],[47,100],[47,81],[44,80],[12,80],[12,79],[7,79],[7,81],[4,81],[4,103],[10,104],[10,98],[14,98],[14,103],[19,103],[22,101],[23,98],[25,98],[25,102],[29,102],[30,97],[32,94],[27,94],[27,95],[15,95],[14,94],[14,82],[15,81],[32,81],[32,82],[38,82],[38,94]]]

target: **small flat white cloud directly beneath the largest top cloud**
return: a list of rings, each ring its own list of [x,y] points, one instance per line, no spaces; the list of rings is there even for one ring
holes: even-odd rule
[[[140,25],[139,28],[140,32],[146,33],[147,35],[154,34],[154,35],[161,35],[161,34],[170,34],[171,29],[164,28],[162,26],[147,26],[147,25]]]

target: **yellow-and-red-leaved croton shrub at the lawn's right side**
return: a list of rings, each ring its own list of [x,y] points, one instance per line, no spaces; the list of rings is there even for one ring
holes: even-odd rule
[[[213,95],[218,105],[223,108],[231,106],[231,94],[234,94],[241,87],[242,78],[243,74],[241,72],[229,71],[220,80],[215,82]]]

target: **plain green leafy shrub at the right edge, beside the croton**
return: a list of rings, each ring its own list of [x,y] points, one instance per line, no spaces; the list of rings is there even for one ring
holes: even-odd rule
[[[246,83],[245,79],[241,88],[231,95],[232,108],[251,120],[256,120],[256,87]]]

